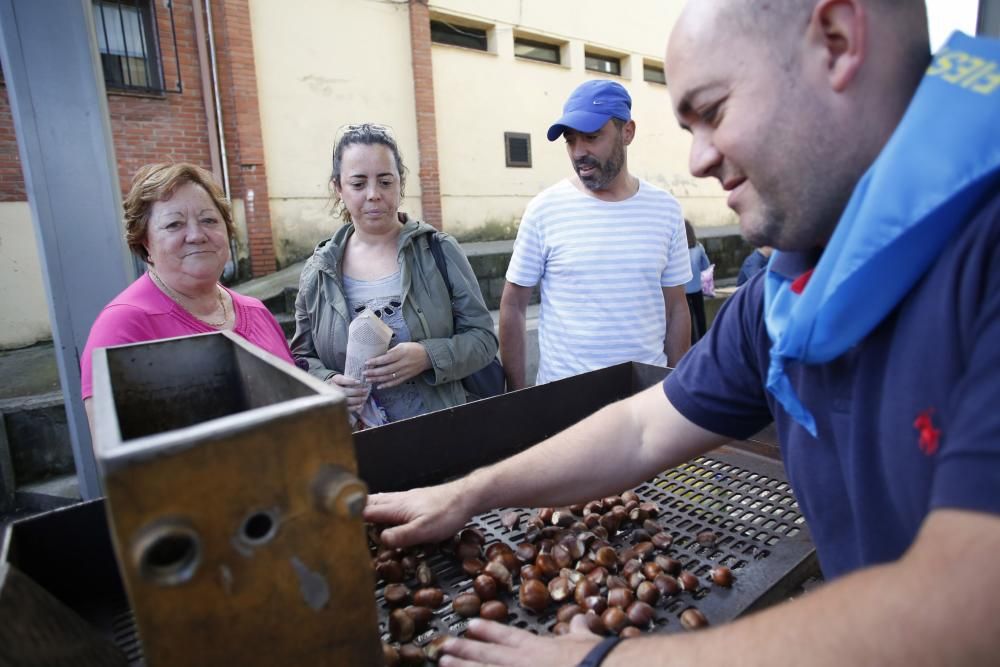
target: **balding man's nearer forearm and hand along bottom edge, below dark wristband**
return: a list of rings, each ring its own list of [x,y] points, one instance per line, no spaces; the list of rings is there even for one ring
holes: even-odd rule
[[[725,626],[619,644],[602,662],[632,665],[987,665],[1000,656],[1000,517],[937,510],[898,561],[860,570]],[[739,580],[737,580],[737,586]],[[597,642],[544,638],[473,621],[445,651],[503,665],[576,665]],[[475,641],[475,639],[485,640]],[[441,665],[459,664],[442,658]],[[465,664],[465,663],[461,663]]]

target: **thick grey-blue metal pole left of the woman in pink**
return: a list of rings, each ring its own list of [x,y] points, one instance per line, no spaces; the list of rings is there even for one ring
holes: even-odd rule
[[[92,0],[0,0],[0,61],[31,205],[80,493],[101,495],[80,354],[134,278]]]

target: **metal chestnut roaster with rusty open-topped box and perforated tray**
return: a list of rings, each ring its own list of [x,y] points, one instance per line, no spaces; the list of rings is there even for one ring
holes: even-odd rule
[[[342,404],[323,383],[235,336],[121,349],[131,357],[109,351],[99,371],[114,400],[99,410],[98,425],[118,428],[115,438],[102,435],[108,446],[98,452],[111,530],[105,501],[36,516],[12,526],[0,567],[85,619],[97,643],[113,643],[132,665],[378,664],[372,647],[387,638],[382,587],[349,503],[323,500],[336,497],[320,491],[325,484],[346,479],[330,466],[349,474],[356,455],[372,492],[434,484],[521,451],[667,373],[619,364],[363,431],[352,452],[343,446],[350,434]],[[191,387],[191,377],[204,383]],[[674,534],[673,555],[686,569],[702,577],[722,563],[736,574],[732,589],[658,605],[656,631],[679,630],[678,614],[692,605],[713,624],[736,618],[785,599],[818,572],[775,452],[764,434],[637,487],[661,508],[657,520]],[[523,538],[501,526],[503,511],[473,523],[488,541],[514,545]],[[694,540],[705,529],[718,535],[711,547]],[[161,552],[153,545],[163,538]],[[431,554],[429,562],[449,599],[469,589],[457,563]],[[310,595],[309,573],[326,578],[325,605]],[[0,616],[9,597],[0,588]],[[510,622],[544,633],[553,614],[512,605]],[[465,624],[445,605],[415,641]],[[357,657],[336,657],[338,649]]]

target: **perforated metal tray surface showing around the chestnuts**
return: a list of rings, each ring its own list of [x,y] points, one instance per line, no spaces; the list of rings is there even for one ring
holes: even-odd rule
[[[701,610],[713,625],[730,621],[785,599],[818,573],[805,521],[780,464],[770,459],[726,447],[661,473],[635,491],[642,500],[659,506],[655,521],[674,537],[669,549],[671,557],[680,560],[685,570],[702,581],[699,590],[662,598],[654,605],[656,615],[649,628],[652,632],[681,630],[678,617],[692,606]],[[477,516],[471,525],[483,532],[487,544],[501,541],[515,547],[524,541],[523,531],[507,530],[500,521],[510,509]],[[695,540],[705,530],[716,533],[714,546],[701,546]],[[628,543],[628,532],[620,531],[610,541],[616,547],[624,546]],[[436,547],[429,548],[426,557],[446,601],[472,589],[471,578],[454,558],[440,554]],[[732,588],[708,583],[708,571],[719,564],[733,570]],[[407,584],[417,587],[415,581]],[[381,584],[376,590],[379,629],[383,640],[390,641],[383,590]],[[518,605],[517,591],[515,585],[510,594],[502,596],[510,610],[508,623],[548,634],[556,623],[559,605],[552,604],[545,612],[535,614]],[[468,620],[455,614],[446,602],[435,612],[431,627],[414,641],[423,645],[440,633],[460,635],[467,627]]]

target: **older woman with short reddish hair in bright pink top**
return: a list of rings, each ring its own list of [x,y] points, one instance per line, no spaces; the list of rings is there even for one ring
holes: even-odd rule
[[[191,164],[139,170],[125,199],[129,248],[149,266],[104,307],[80,360],[80,383],[91,411],[91,352],[98,347],[231,330],[288,363],[288,343],[257,299],[219,284],[235,232],[229,202],[212,175]]]

